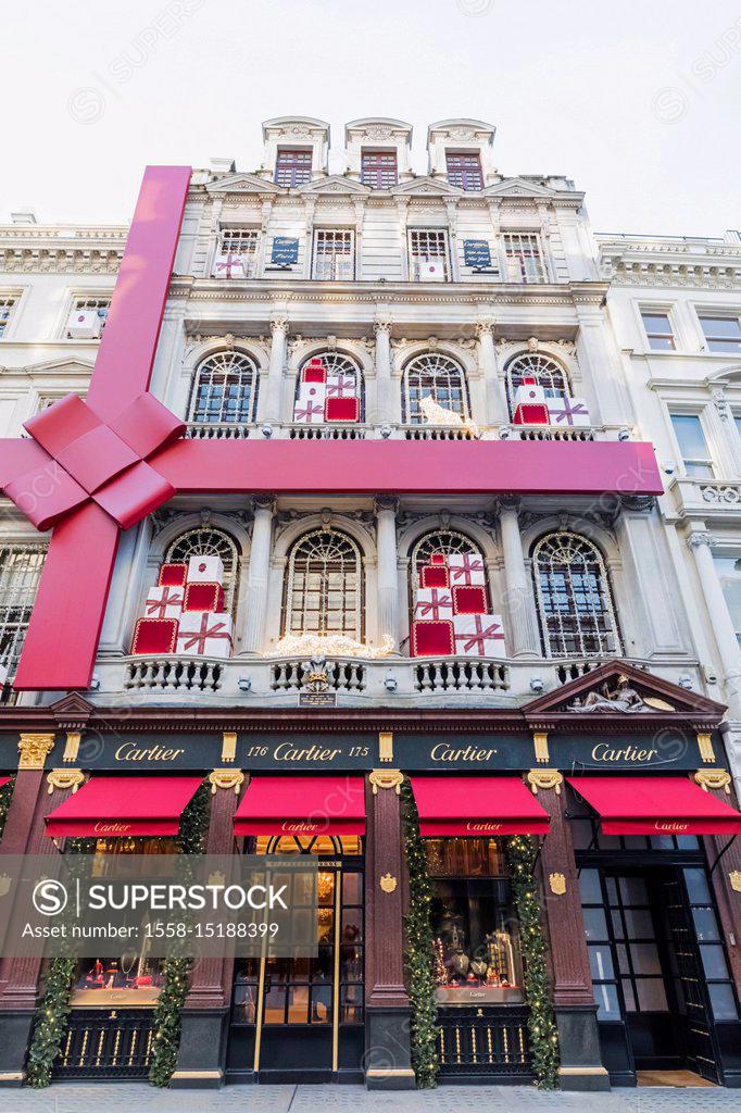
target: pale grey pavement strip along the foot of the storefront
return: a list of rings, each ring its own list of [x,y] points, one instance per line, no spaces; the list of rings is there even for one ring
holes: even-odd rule
[[[364,1086],[227,1086],[155,1090],[130,1083],[56,1083],[0,1090],[0,1113],[715,1113],[741,1110],[720,1086],[650,1086],[610,1093],[541,1093],[531,1086],[439,1086],[383,1093]]]

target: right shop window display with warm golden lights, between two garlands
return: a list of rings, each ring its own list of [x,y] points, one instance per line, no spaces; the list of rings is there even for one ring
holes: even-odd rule
[[[495,838],[425,840],[441,1004],[524,1001],[520,924]]]

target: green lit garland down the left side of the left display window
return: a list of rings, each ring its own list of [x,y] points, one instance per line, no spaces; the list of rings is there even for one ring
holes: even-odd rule
[[[83,854],[89,839],[69,838],[66,854]],[[42,1090],[51,1082],[51,1071],[67,1034],[76,958],[52,958],[43,979],[43,994],[33,1017],[33,1034],[28,1051],[26,1077],[29,1086]]]

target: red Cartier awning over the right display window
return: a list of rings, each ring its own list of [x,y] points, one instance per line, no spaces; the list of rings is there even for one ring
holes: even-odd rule
[[[516,777],[413,777],[419,834],[547,835],[550,817]]]

